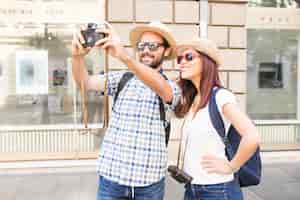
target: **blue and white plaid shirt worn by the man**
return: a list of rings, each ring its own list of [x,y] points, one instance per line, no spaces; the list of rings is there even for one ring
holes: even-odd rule
[[[114,96],[124,72],[108,74],[108,95]],[[168,80],[173,90],[172,103],[179,102],[179,86]],[[136,76],[130,79],[114,105],[99,158],[98,173],[126,186],[147,186],[166,174],[167,148],[165,130],[160,120],[157,94]]]

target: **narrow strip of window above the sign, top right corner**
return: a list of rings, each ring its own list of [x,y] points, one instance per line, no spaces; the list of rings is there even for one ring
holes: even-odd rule
[[[250,0],[249,7],[300,8],[300,0]]]

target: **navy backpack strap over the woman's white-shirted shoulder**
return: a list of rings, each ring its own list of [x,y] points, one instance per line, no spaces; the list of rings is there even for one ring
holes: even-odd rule
[[[209,104],[208,104],[208,112],[209,112],[210,120],[212,122],[213,127],[216,129],[219,136],[222,138],[222,141],[224,142],[225,146],[227,146],[228,140],[226,137],[226,130],[225,130],[224,122],[223,122],[223,119],[219,112],[219,109],[217,106],[217,101],[216,101],[216,94],[221,89],[223,89],[223,88],[217,87],[211,91],[211,97],[210,97]]]

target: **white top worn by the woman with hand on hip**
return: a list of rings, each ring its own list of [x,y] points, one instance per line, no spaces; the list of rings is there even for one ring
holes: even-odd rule
[[[222,107],[227,103],[236,104],[235,96],[230,91],[221,89],[216,95],[216,102],[227,132],[230,122],[224,117]],[[193,177],[192,184],[209,185],[233,180],[233,174],[208,174],[201,166],[203,155],[209,154],[226,158],[225,145],[213,128],[208,104],[197,112],[194,119],[191,113],[187,115],[183,127],[182,142],[186,144],[184,145],[186,152],[183,169]]]

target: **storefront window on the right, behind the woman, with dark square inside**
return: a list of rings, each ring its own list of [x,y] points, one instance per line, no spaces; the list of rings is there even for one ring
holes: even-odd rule
[[[299,32],[249,29],[247,34],[249,115],[254,119],[296,119]]]

